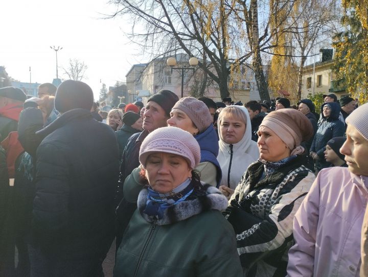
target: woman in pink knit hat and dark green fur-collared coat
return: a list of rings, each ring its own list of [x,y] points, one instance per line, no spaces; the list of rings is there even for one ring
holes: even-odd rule
[[[241,276],[234,230],[221,214],[227,199],[193,170],[200,161],[193,134],[158,128],[143,141],[139,160],[146,186],[118,248],[114,276]]]

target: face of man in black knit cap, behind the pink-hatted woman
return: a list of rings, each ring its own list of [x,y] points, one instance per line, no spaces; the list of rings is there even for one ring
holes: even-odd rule
[[[167,120],[165,110],[160,105],[153,101],[148,102],[143,118],[143,129],[152,132],[160,127],[166,127]]]

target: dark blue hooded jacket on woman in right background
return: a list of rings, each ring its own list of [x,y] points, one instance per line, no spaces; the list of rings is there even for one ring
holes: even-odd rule
[[[323,107],[329,104],[331,106],[331,116],[325,118]],[[322,121],[318,126],[314,136],[311,152],[317,153],[320,159],[324,159],[324,151],[329,140],[336,136],[343,136],[345,132],[344,124],[338,119],[340,114],[340,104],[336,102],[324,103],[321,106]]]

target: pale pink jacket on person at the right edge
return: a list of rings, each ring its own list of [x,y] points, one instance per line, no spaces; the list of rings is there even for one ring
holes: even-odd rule
[[[294,218],[288,276],[359,276],[368,177],[333,167],[319,172]]]

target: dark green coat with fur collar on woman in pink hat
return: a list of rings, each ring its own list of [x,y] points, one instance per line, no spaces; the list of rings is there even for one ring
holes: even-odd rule
[[[220,213],[227,199],[218,189],[182,201],[164,211],[162,219],[143,213],[147,190],[117,251],[115,277],[242,276],[233,227]]]

